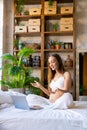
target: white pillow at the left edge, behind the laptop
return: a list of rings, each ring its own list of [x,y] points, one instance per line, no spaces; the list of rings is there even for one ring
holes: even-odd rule
[[[0,104],[9,103],[12,104],[12,98],[9,94],[0,90]]]

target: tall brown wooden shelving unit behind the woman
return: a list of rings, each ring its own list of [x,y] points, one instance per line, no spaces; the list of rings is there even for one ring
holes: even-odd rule
[[[74,0],[57,0],[57,10],[58,12],[56,14],[44,14],[44,10],[45,10],[45,6],[44,3],[46,1],[45,0],[25,0],[25,5],[30,5],[30,6],[41,6],[41,15],[16,15],[14,12],[14,21],[16,20],[17,23],[19,23],[20,21],[28,21],[29,19],[37,19],[40,18],[41,20],[41,25],[40,25],[40,32],[14,32],[14,37],[16,36],[16,38],[20,38],[20,37],[32,37],[32,39],[34,39],[35,37],[40,37],[41,41],[40,41],[40,45],[41,45],[41,49],[40,50],[36,50],[36,53],[40,53],[41,56],[41,67],[39,68],[41,71],[41,80],[44,83],[44,86],[47,86],[47,66],[45,66],[45,63],[47,62],[47,58],[49,56],[49,54],[51,53],[59,53],[60,55],[67,55],[70,54],[73,57],[73,67],[67,68],[67,70],[70,70],[72,73],[72,78],[73,78],[73,97],[75,98],[75,24],[74,24],[74,20],[75,20],[75,10],[74,10]],[[14,5],[16,4],[16,1],[14,3]],[[72,4],[73,5],[73,13],[60,13],[59,9],[61,6],[65,6],[67,4]],[[56,32],[54,32],[53,30],[46,30],[46,22],[50,21],[50,20],[60,20],[61,18],[73,18],[73,30],[72,31],[61,31],[60,29],[57,30]],[[15,23],[14,23],[15,25]],[[47,44],[48,41],[47,39],[51,39],[51,37],[54,39],[59,40],[62,39],[62,37],[72,37],[72,48],[71,49],[60,49],[60,50],[56,50],[56,49],[50,49],[47,48]],[[69,40],[66,40],[67,42]],[[65,41],[65,42],[66,42]],[[14,50],[13,50],[14,51]],[[18,51],[18,50],[16,50]],[[13,53],[14,54],[14,53]],[[46,63],[47,64],[47,63]],[[45,84],[46,83],[46,84]]]

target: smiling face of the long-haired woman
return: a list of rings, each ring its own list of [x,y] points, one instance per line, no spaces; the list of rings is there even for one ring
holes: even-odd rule
[[[49,57],[48,63],[52,70],[58,70],[58,61],[54,56]]]

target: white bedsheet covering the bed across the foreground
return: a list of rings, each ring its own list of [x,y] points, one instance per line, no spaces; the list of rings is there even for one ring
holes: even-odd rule
[[[67,110],[0,110],[0,130],[87,130],[87,102]]]

